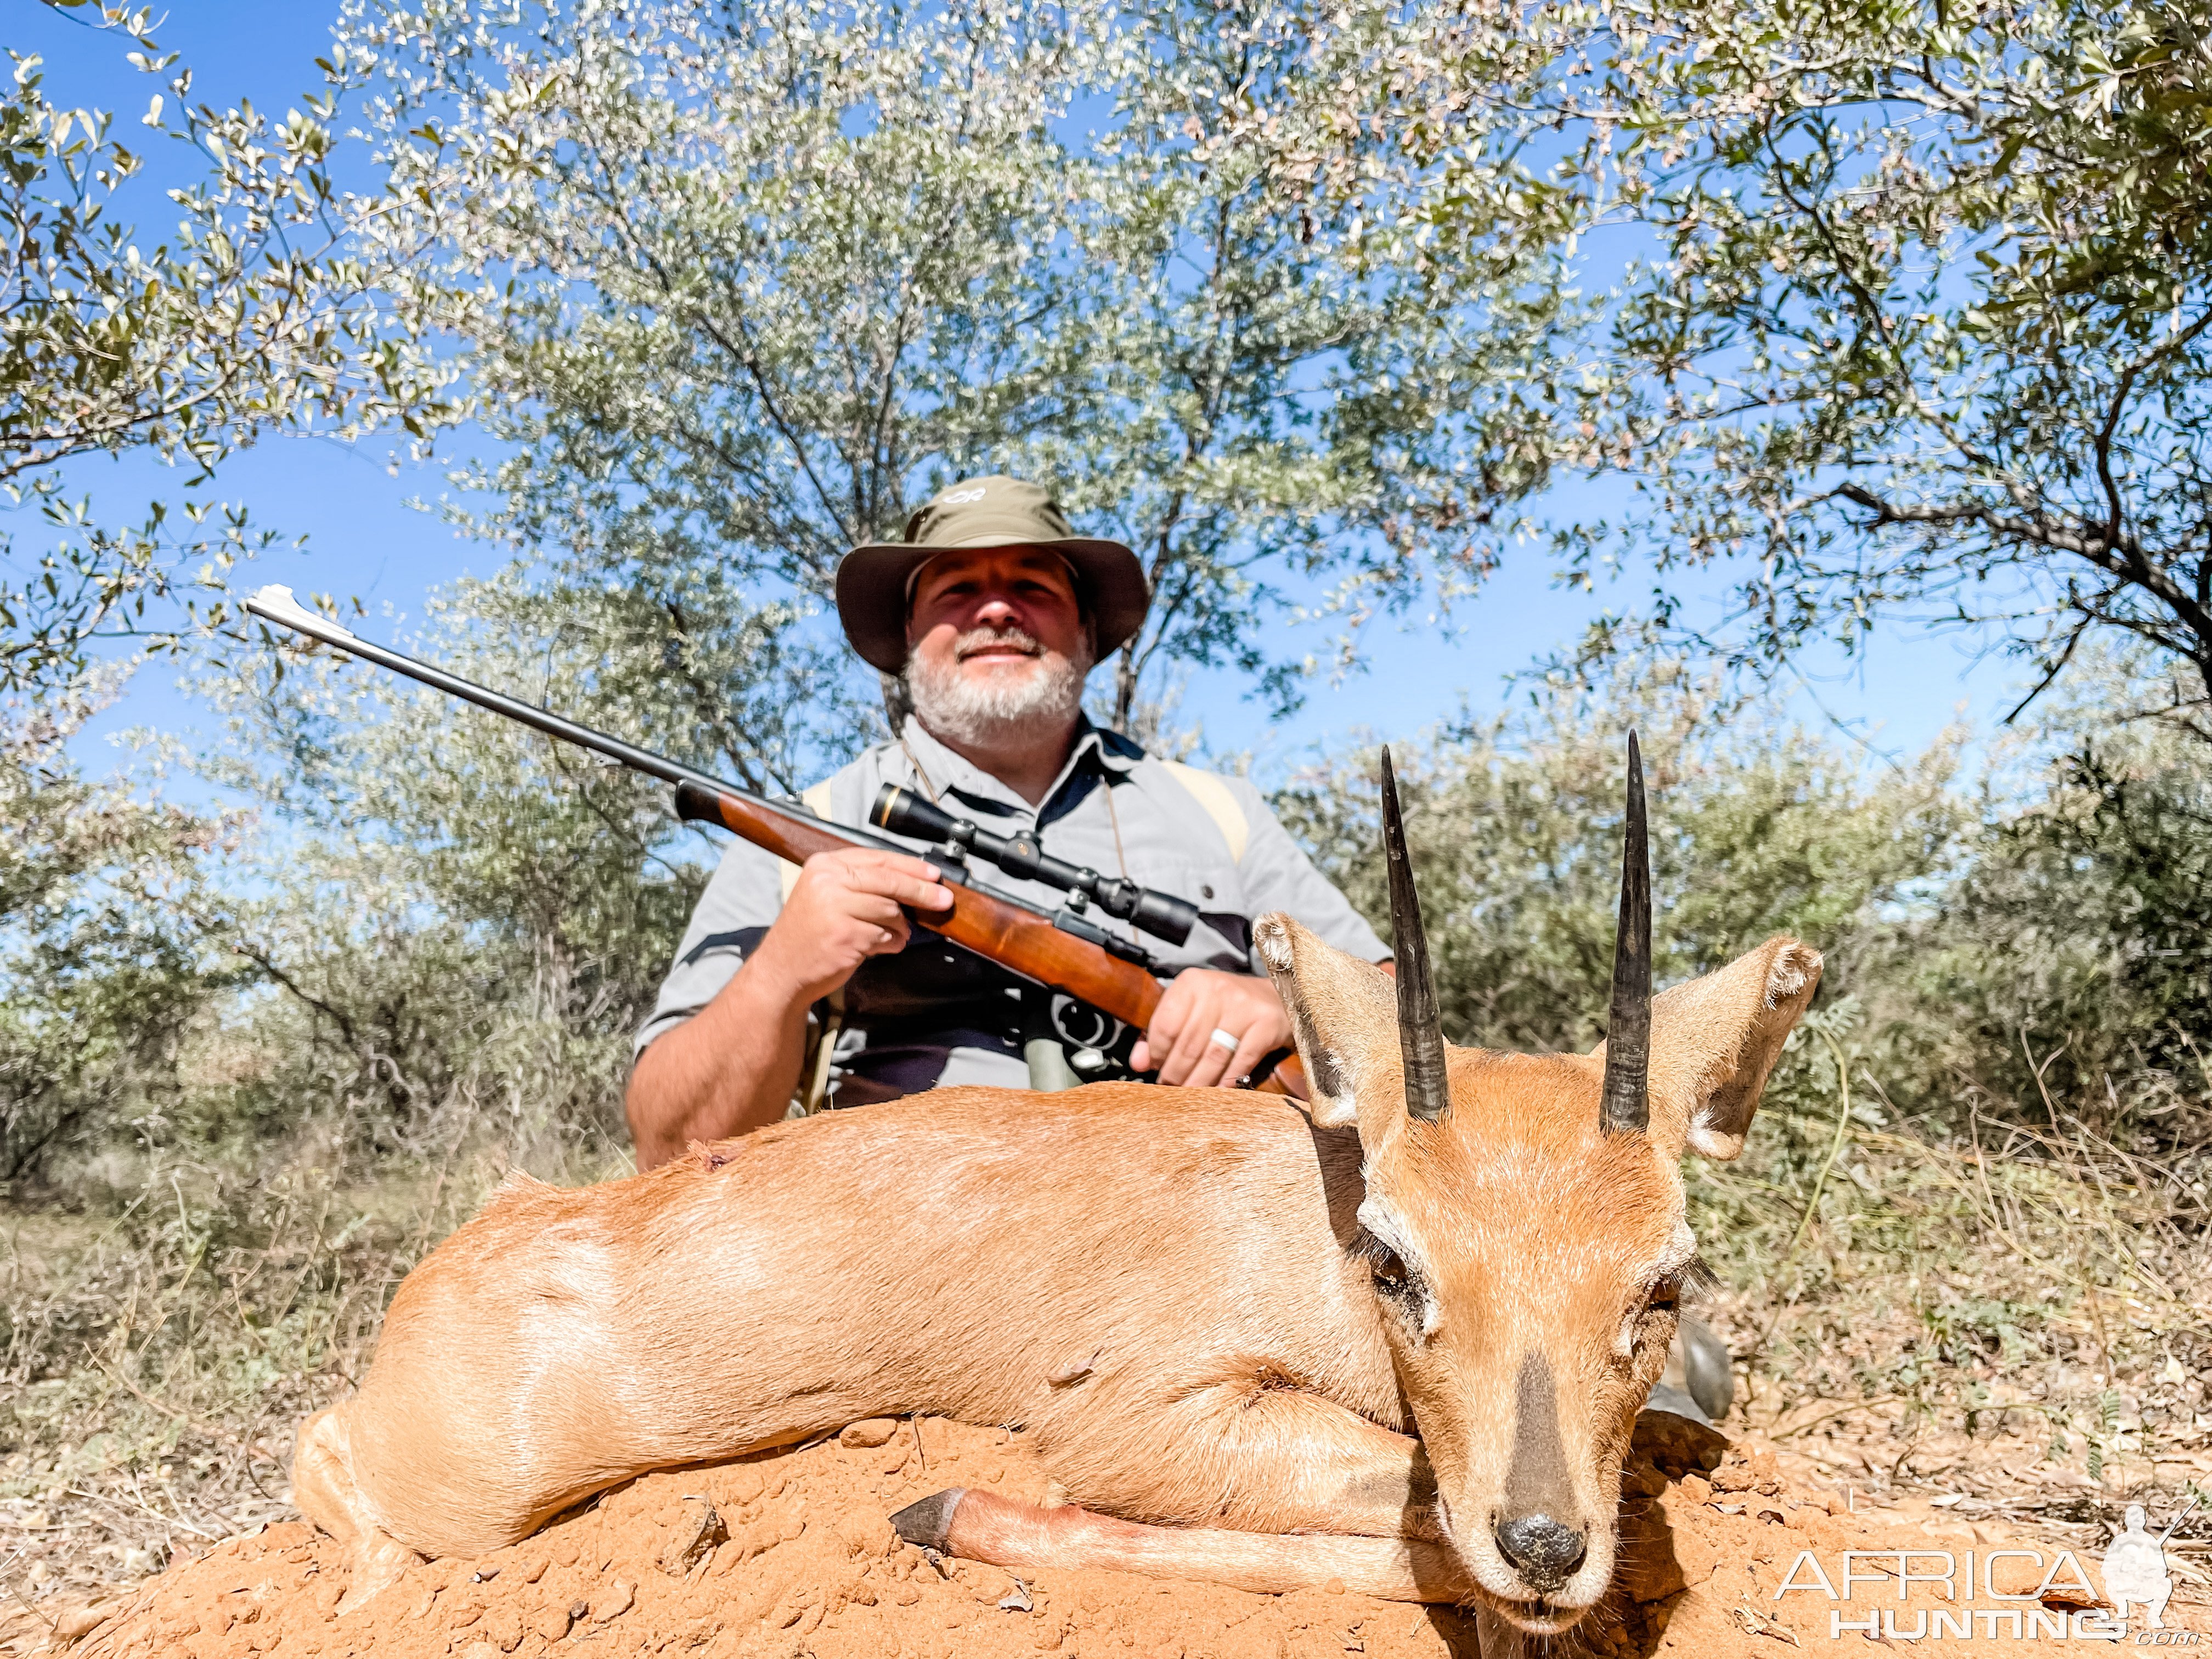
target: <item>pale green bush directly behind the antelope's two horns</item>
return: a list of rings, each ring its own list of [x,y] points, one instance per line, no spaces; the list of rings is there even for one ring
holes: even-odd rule
[[[1940,880],[1969,827],[1955,748],[1863,781],[1805,732],[1719,719],[1710,688],[1661,668],[1606,692],[1548,688],[1493,721],[1394,745],[1444,1031],[1502,1048],[1604,1035],[1621,883],[1626,734],[1639,730],[1652,827],[1659,982],[1717,969],[1774,933],[1827,956],[1825,995],[1860,989],[1893,916]],[[1292,827],[1378,927],[1371,750],[1279,796]]]

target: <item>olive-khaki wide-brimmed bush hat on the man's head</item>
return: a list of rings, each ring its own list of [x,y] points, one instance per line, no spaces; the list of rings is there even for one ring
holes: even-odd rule
[[[1137,555],[1077,535],[1048,493],[1020,478],[967,478],[907,520],[905,542],[856,546],[836,566],[836,615],[860,661],[887,675],[907,666],[907,595],[938,553],[969,546],[1042,546],[1075,571],[1077,599],[1106,657],[1144,626],[1152,595]]]

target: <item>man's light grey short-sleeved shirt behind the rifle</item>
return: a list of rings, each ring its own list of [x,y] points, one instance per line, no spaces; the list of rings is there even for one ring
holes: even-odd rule
[[[834,823],[867,827],[885,783],[933,799],[991,834],[1031,834],[1055,858],[1104,876],[1128,876],[1194,905],[1201,920],[1181,945],[1137,936],[1128,922],[1088,911],[1088,920],[1106,931],[1139,940],[1161,978],[1192,967],[1263,973],[1252,956],[1252,920],[1274,909],[1352,956],[1369,962],[1389,956],[1248,781],[1194,776],[1088,721],[1040,807],[911,719],[905,745],[867,750],[830,779],[827,801],[821,787],[810,790],[807,801]],[[1212,805],[1201,792],[1212,794]],[[1232,849],[1239,830],[1243,847]],[[902,845],[927,849],[911,841]],[[750,841],[730,845],[692,911],[653,1018],[637,1033],[639,1053],[699,1013],[737,975],[783,909],[787,872]],[[1044,911],[1064,902],[1060,889],[1018,880],[982,860],[975,863],[975,878]],[[922,927],[896,956],[869,958],[843,1000],[832,1068],[832,1102],[838,1106],[951,1084],[1029,1084],[1020,1042],[1022,980]],[[1110,1046],[1088,1031],[1068,1031],[1066,1024],[1062,1031],[1071,1042]]]

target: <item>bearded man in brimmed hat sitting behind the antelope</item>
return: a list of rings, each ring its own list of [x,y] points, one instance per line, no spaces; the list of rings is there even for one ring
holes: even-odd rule
[[[905,675],[914,717],[810,790],[807,805],[865,825],[876,792],[896,783],[1199,907],[1181,947],[1146,940],[1175,978],[1133,1053],[1139,1071],[1234,1084],[1290,1044],[1283,1004],[1252,960],[1254,916],[1283,909],[1338,949],[1389,956],[1250,783],[1155,761],[1084,719],[1084,675],[1137,633],[1150,595],[1130,549],[1075,535],[1035,484],[978,478],[940,491],[905,542],[845,555],[836,602],[854,650]],[[1046,909],[1062,902],[1057,889],[980,874]],[[905,914],[949,907],[918,856],[856,847],[794,874],[734,843],[637,1035],[628,1115],[639,1168],[688,1141],[772,1124],[794,1095],[858,1106],[942,1084],[1031,1086],[1024,1009],[1035,1000]],[[810,1020],[821,1064],[801,1079]]]

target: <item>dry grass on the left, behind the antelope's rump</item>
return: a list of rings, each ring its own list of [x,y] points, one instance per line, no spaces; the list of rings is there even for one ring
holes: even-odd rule
[[[100,1197],[0,1206],[0,1604],[290,1515],[292,1436],[367,1365],[407,1270],[509,1168],[628,1166],[524,1150],[363,1168],[307,1135],[252,1161],[111,1159]]]

